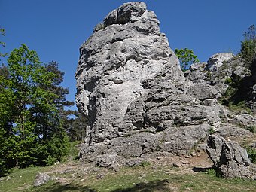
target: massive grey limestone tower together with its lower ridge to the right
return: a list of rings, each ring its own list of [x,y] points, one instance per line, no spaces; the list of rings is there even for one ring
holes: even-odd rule
[[[81,157],[116,169],[131,157],[187,154],[212,132],[252,136],[236,125],[254,126],[254,116],[234,116],[218,102],[229,87],[227,78],[248,77],[238,65],[224,68],[227,62],[239,59],[218,53],[184,74],[145,3],[111,11],[80,48],[76,103],[90,120]],[[254,92],[248,89],[251,98]]]

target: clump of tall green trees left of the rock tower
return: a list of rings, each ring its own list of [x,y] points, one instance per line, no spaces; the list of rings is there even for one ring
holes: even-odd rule
[[[37,53],[22,44],[0,69],[1,170],[45,166],[66,152],[59,108],[69,91],[59,86],[63,73],[52,66],[42,65]]]

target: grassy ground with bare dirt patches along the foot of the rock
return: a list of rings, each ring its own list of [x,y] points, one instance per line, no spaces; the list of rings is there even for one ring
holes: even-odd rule
[[[69,168],[66,169],[67,167]],[[217,178],[212,170],[192,172],[192,168],[184,170],[151,164],[145,167],[123,168],[117,172],[103,168],[93,168],[88,171],[87,167],[72,162],[69,165],[64,163],[44,168],[14,169],[11,174],[0,178],[0,191],[256,191],[256,181],[221,179]],[[41,187],[33,187],[38,172],[47,172],[54,179]]]

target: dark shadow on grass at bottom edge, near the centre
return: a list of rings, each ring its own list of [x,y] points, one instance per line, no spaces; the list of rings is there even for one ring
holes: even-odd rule
[[[134,187],[126,189],[112,190],[112,192],[153,192],[153,191],[169,191],[168,180],[151,181],[147,183],[139,183]]]

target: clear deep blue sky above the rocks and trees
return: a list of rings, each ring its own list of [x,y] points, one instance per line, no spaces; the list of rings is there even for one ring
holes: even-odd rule
[[[0,0],[0,26],[6,36],[1,53],[24,43],[41,62],[52,60],[66,72],[63,87],[75,100],[79,47],[109,11],[123,0]],[[145,0],[160,20],[172,49],[190,48],[200,61],[218,52],[237,53],[242,33],[256,24],[255,0]]]

